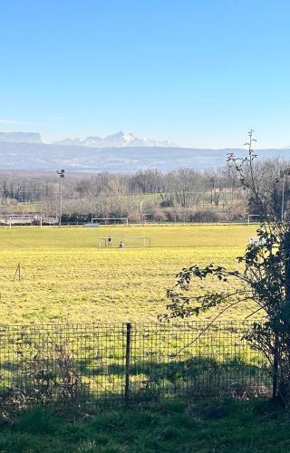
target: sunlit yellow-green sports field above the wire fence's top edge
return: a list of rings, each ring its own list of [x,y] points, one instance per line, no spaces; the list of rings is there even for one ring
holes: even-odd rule
[[[237,267],[255,226],[116,226],[0,229],[1,323],[150,322],[185,265]],[[150,237],[150,248],[99,248],[99,237]],[[119,239],[118,239],[119,240]],[[135,240],[135,245],[138,245]],[[13,282],[18,262],[21,281]],[[215,286],[217,288],[217,286]],[[205,289],[199,283],[195,291]],[[245,307],[232,309],[238,319]],[[225,319],[225,318],[224,318]]]

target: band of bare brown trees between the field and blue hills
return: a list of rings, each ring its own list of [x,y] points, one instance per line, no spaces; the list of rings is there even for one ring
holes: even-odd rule
[[[290,162],[257,160],[255,178],[260,190],[282,202],[282,169]],[[289,190],[285,178],[285,200]],[[143,169],[136,173],[71,173],[62,181],[63,222],[82,223],[92,217],[128,217],[132,223],[238,222],[252,212],[247,190],[233,164],[197,171],[184,168],[167,173]],[[59,215],[60,178],[55,173],[0,173],[0,214]]]

